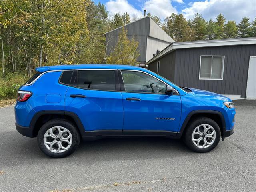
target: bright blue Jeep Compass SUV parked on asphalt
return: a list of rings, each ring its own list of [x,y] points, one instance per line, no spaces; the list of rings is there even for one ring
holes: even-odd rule
[[[46,155],[70,155],[80,139],[183,138],[208,152],[234,132],[229,98],[179,87],[136,66],[81,64],[36,68],[18,90],[16,129]]]

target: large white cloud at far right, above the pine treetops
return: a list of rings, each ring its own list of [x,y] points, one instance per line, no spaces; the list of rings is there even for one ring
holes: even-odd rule
[[[192,19],[194,14],[200,13],[209,20],[214,19],[222,13],[226,20],[235,20],[237,23],[244,16],[250,18],[250,21],[256,17],[255,0],[205,0],[200,2],[190,2],[188,8],[182,10],[186,19]]]

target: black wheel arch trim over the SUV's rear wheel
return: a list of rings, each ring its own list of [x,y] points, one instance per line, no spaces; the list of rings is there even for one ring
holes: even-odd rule
[[[33,130],[33,136],[36,137],[41,126],[54,118],[63,118],[73,122],[76,128],[78,128],[80,135],[83,136],[85,130],[80,118],[73,112],[63,110],[44,110],[34,114],[29,126]]]

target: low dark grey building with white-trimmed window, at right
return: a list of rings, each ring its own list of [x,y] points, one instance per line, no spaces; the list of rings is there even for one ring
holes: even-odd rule
[[[180,86],[256,98],[256,38],[174,42],[147,64]]]

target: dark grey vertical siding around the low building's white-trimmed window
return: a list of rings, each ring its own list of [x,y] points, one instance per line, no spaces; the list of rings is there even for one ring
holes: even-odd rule
[[[161,59],[165,60],[169,55]],[[201,55],[225,56],[223,80],[199,80]],[[255,45],[178,49],[174,83],[219,94],[245,97],[249,58],[252,55],[256,55]]]

